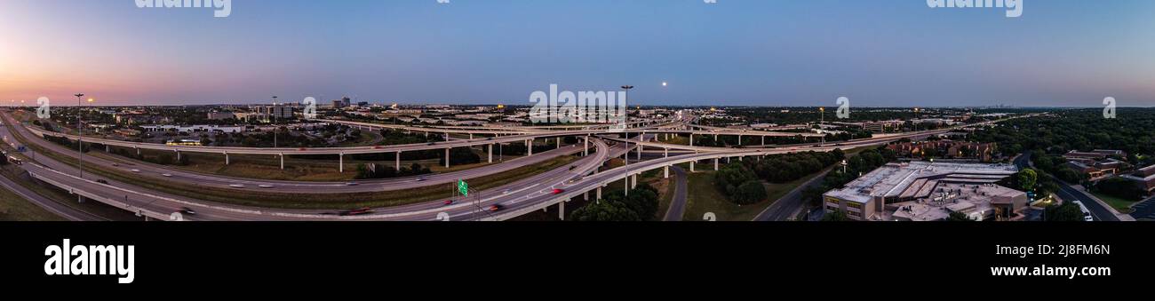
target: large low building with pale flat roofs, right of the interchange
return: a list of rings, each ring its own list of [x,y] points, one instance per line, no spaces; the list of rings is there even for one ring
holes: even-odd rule
[[[941,220],[952,212],[1011,219],[1027,208],[1027,194],[994,183],[1016,172],[1005,164],[888,164],[824,194],[822,208],[854,220]]]

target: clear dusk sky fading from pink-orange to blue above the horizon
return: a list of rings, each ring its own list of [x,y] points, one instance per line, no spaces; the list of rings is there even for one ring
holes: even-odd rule
[[[524,105],[556,83],[641,105],[1155,106],[1155,1],[1023,2],[5,0],[0,105]]]

